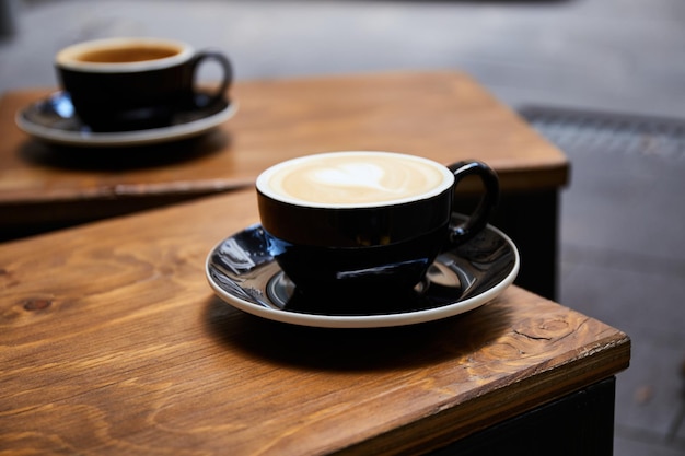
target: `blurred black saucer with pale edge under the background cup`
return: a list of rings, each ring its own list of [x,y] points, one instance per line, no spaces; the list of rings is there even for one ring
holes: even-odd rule
[[[233,117],[236,112],[236,102],[222,101],[207,107],[177,113],[165,127],[94,132],[76,117],[69,95],[56,92],[18,112],[15,121],[20,129],[42,141],[104,148],[148,145],[191,138],[219,126]]]

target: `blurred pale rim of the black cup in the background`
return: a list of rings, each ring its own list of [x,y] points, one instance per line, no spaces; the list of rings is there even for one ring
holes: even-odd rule
[[[135,62],[86,62],[79,61],[74,58],[76,55],[82,54],[85,50],[94,48],[113,48],[121,45],[129,45],[131,43],[143,45],[165,45],[174,46],[181,49],[181,52],[171,57],[164,57],[161,59],[135,61]],[[156,70],[174,65],[183,63],[193,57],[195,49],[187,43],[176,39],[167,38],[152,38],[152,37],[116,37],[116,38],[102,38],[93,39],[89,42],[77,43],[67,46],[59,50],[55,56],[55,65],[59,68],[83,71],[93,73],[111,73],[111,72],[135,72],[135,71],[149,71]]]

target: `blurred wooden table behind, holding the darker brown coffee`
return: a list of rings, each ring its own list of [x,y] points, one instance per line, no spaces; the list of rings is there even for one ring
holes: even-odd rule
[[[0,98],[0,238],[249,186],[269,165],[335,150],[487,162],[503,198],[494,224],[516,242],[519,282],[553,297],[557,197],[566,156],[458,72],[372,73],[239,81],[237,115],[194,141],[119,150],[51,148],[14,125],[50,90]],[[468,187],[468,186],[467,186]],[[464,188],[464,207],[469,192]]]

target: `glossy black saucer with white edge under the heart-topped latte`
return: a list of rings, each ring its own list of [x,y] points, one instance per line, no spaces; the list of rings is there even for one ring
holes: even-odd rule
[[[348,309],[348,303],[337,311],[322,303],[323,313],[315,311],[320,303],[298,301],[294,285],[269,255],[264,230],[256,224],[219,243],[207,256],[205,271],[221,300],[262,318],[322,328],[379,328],[433,321],[479,307],[514,281],[519,264],[513,242],[488,225],[458,248],[441,254],[414,295],[388,297],[373,313],[365,307]]]

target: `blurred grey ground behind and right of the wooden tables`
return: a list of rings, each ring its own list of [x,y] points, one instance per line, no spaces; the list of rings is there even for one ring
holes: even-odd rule
[[[73,42],[156,35],[224,50],[239,79],[460,69],[516,109],[685,119],[682,0],[25,0],[14,28],[0,42],[0,92],[54,85],[51,58]],[[634,340],[615,454],[683,455],[685,149],[629,153],[593,139],[605,126],[570,142],[535,126],[572,163],[558,301]]]

